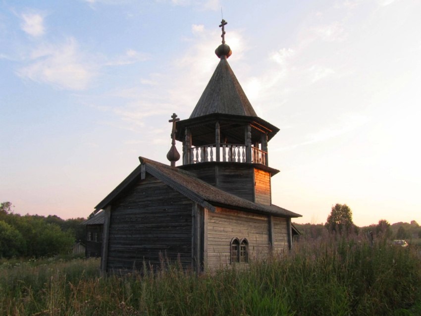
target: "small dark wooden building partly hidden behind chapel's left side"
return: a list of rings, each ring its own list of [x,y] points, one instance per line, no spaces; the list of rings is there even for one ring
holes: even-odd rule
[[[101,257],[104,233],[104,211],[80,223],[86,225],[86,258]]]

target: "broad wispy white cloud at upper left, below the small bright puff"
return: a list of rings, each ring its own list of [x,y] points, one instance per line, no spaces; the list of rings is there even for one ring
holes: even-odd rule
[[[60,89],[84,90],[96,75],[95,66],[84,59],[76,40],[69,38],[63,44],[34,49],[29,65],[20,68],[17,75]]]

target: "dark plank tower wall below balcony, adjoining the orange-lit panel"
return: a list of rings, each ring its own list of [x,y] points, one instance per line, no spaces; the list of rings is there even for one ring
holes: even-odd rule
[[[239,163],[218,165],[216,187],[222,191],[234,194],[253,202],[253,169],[241,166]]]

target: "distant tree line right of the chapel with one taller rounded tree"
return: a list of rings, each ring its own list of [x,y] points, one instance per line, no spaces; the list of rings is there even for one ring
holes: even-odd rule
[[[339,203],[332,206],[324,224],[294,223],[294,225],[303,235],[311,238],[320,237],[325,229],[329,232],[340,234],[358,234],[362,230],[366,233],[371,232],[376,236],[398,240],[421,238],[421,226],[415,220],[412,220],[411,223],[398,222],[390,224],[387,220],[380,219],[377,224],[358,227],[352,220],[351,209],[346,204]]]

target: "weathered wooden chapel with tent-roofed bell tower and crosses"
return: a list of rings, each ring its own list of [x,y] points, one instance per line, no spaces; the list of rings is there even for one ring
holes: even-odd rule
[[[190,117],[170,120],[171,165],[140,157],[96,206],[104,210],[103,271],[159,266],[164,257],[199,272],[292,248],[291,218],[301,215],[271,198],[279,170],[269,166],[267,144],[279,129],[247,99],[224,37],[215,53],[219,64]]]

